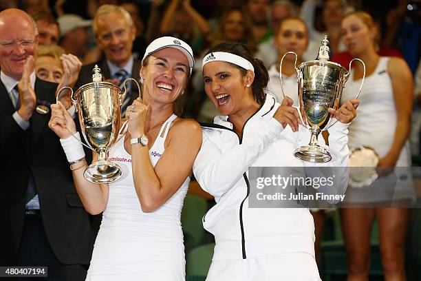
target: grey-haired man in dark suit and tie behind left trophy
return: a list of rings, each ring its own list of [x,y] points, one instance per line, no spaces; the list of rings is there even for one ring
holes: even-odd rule
[[[122,82],[129,77],[139,81],[140,62],[133,59],[132,55],[136,28],[129,12],[121,6],[102,5],[92,21],[92,28],[96,43],[104,52],[105,59],[83,65],[74,90],[92,82],[94,65],[100,67],[102,77],[120,87],[122,87]],[[131,105],[138,96],[136,85],[131,85],[131,90],[122,105],[122,116],[125,115],[127,105]]]

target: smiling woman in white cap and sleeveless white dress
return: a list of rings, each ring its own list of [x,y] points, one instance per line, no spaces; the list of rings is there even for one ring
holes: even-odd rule
[[[180,214],[202,132],[174,112],[193,65],[190,46],[179,39],[161,37],[147,47],[142,100],[127,110],[128,133],[109,151],[123,175],[109,185],[85,180],[83,149],[67,132],[76,132],[74,122],[63,105],[52,105],[49,125],[73,163],[78,195],[90,214],[103,212],[89,281],[184,280]]]

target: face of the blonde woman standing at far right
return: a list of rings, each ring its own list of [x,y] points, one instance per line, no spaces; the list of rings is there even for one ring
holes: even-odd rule
[[[356,14],[351,14],[343,19],[341,34],[343,43],[352,56],[359,56],[369,48],[374,48],[376,28],[369,27]]]

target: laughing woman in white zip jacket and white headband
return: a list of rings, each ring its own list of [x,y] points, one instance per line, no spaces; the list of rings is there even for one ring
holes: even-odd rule
[[[248,168],[345,167],[354,105],[330,110],[340,121],[330,129],[332,161],[303,162],[293,152],[310,134],[291,98],[280,105],[264,92],[268,72],[245,45],[215,46],[204,57],[202,70],[206,94],[222,114],[202,126],[203,144],[193,165],[200,186],[217,201],[203,219],[216,241],[207,280],[320,280],[310,212],[250,208]],[[337,180],[336,188],[345,189],[347,175]]]

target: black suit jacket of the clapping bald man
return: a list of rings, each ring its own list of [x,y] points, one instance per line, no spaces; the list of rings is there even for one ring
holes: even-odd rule
[[[34,90],[39,100],[55,103],[56,87],[56,83],[36,79]],[[24,131],[14,121],[14,111],[0,81],[0,265],[16,263],[30,173],[38,189],[45,233],[58,260],[89,264],[95,233],[59,138],[47,126],[51,112],[43,115],[34,110],[30,128]]]

